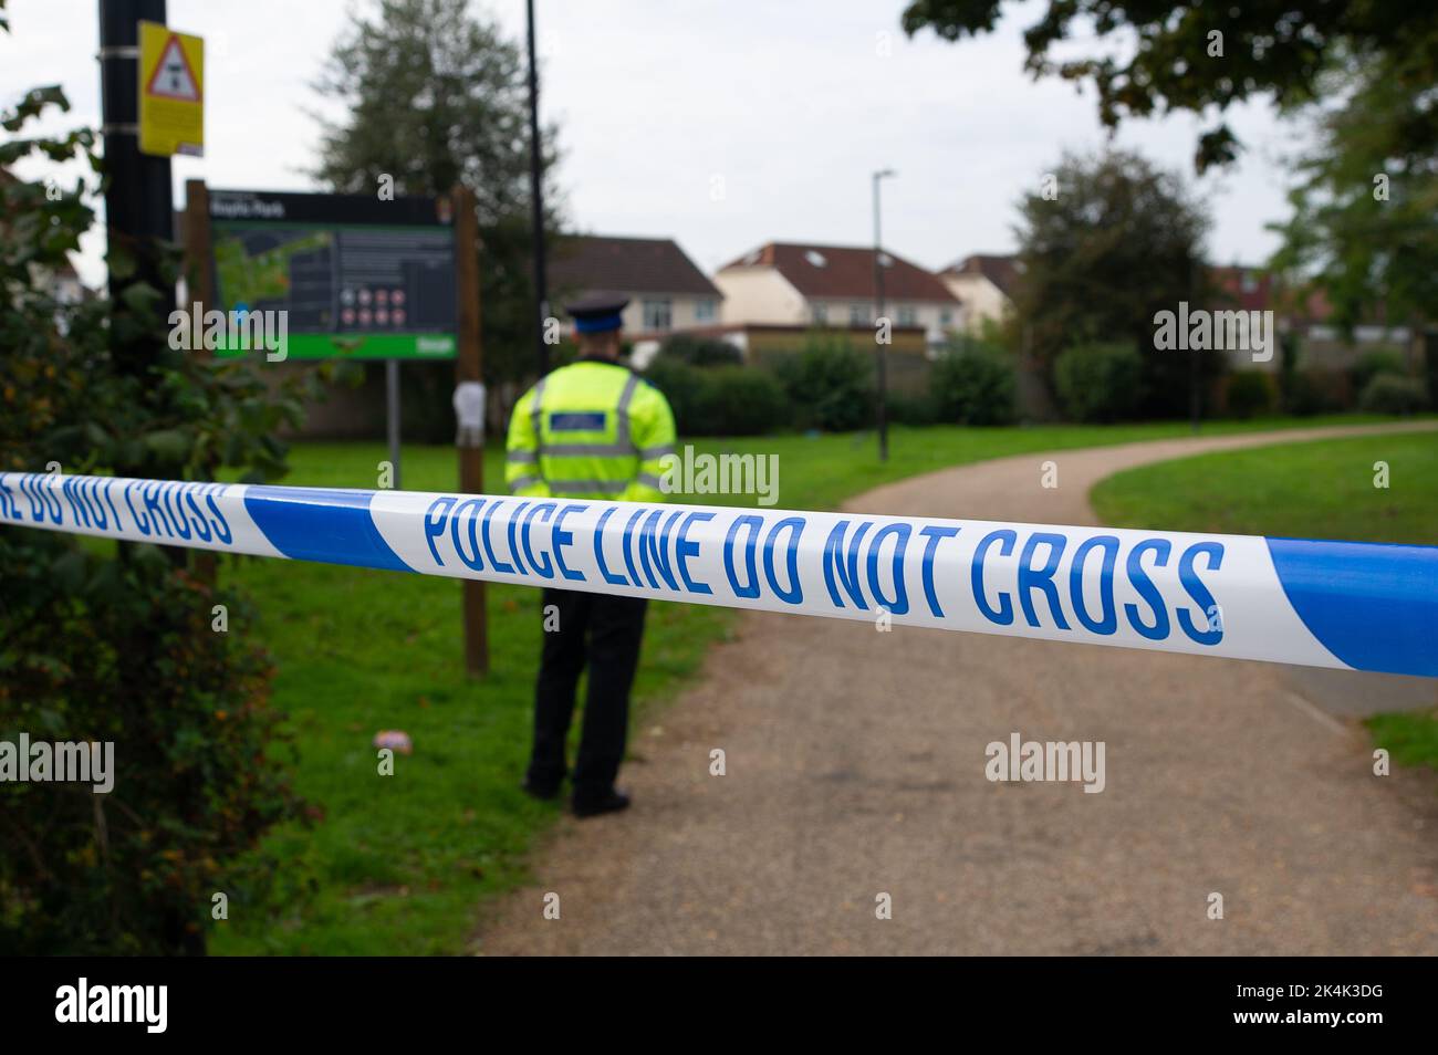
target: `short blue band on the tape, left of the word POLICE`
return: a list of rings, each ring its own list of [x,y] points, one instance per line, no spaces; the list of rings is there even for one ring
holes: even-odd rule
[[[252,486],[244,509],[275,549],[295,561],[413,572],[370,516],[374,492]]]

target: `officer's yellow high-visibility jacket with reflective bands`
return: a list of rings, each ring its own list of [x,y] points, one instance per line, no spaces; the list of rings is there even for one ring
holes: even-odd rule
[[[617,362],[581,359],[515,404],[505,482],[536,497],[663,502],[660,459],[674,438],[657,388]]]

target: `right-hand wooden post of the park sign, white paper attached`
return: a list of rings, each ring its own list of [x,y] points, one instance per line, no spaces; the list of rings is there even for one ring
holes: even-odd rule
[[[454,295],[459,298],[459,355],[454,359],[454,384],[483,381],[483,349],[479,338],[479,218],[475,193],[454,187]],[[459,443],[459,489],[466,494],[485,492],[485,437],[462,437]],[[470,677],[489,673],[489,614],[485,584],[464,579],[460,584],[464,605],[464,670]]]

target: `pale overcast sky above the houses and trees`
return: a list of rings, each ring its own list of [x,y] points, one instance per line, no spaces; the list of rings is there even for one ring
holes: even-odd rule
[[[309,80],[365,0],[170,0],[168,20],[206,40],[206,157],[183,183],[309,190],[316,105]],[[475,0],[516,40],[523,0]],[[884,244],[928,267],[1014,247],[1014,201],[1061,151],[1103,144],[1091,95],[1022,72],[1037,0],[997,33],[949,45],[899,29],[903,0],[536,0],[541,118],[557,122],[565,214],[587,233],[672,236],[705,270],[769,240],[867,244],[870,174],[893,168]],[[59,82],[69,115],[99,124],[96,0],[10,0],[0,101]],[[1267,106],[1235,111],[1250,147],[1199,185],[1209,256],[1261,263],[1264,224],[1286,214],[1291,131]],[[1119,144],[1192,172],[1196,122],[1125,126]],[[20,170],[27,178],[40,167]],[[70,177],[73,183],[73,177]],[[99,239],[78,260],[104,277]]]

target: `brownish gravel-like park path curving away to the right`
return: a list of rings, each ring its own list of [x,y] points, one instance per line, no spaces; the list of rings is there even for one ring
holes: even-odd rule
[[[1130,466],[1382,428],[1025,454],[848,507],[1091,525],[1089,489]],[[1438,683],[1398,681],[1438,703]],[[475,949],[1438,953],[1438,782],[1373,776],[1365,732],[1311,697],[1270,664],[745,614],[702,683],[636,726],[634,808],[562,821]],[[1106,791],[989,783],[985,745],[1014,732],[1104,740]]]

